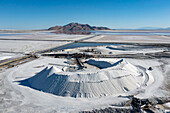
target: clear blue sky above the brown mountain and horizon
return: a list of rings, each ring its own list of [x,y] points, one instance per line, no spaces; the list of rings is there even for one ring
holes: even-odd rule
[[[170,0],[0,0],[0,29],[170,27]]]

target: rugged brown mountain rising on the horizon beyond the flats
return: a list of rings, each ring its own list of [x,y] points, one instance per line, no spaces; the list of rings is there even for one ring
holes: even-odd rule
[[[64,34],[91,34],[93,30],[110,30],[107,27],[96,27],[88,24],[69,23],[64,26],[50,27],[48,30],[56,30],[54,33]]]

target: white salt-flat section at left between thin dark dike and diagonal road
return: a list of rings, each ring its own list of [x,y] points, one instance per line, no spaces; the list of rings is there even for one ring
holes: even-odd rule
[[[30,53],[38,50],[57,47],[67,42],[60,41],[18,41],[0,40],[0,51]]]

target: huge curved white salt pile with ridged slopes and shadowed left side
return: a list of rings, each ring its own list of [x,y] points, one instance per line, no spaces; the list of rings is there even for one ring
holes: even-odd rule
[[[92,98],[115,95],[136,89],[140,83],[137,68],[125,60],[117,65],[97,70],[62,72],[55,67],[46,67],[35,76],[19,81],[20,85],[58,96]]]

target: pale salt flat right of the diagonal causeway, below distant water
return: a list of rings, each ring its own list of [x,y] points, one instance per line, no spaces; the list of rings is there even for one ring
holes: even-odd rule
[[[84,42],[109,42],[109,43],[163,43],[170,44],[168,36],[123,36],[123,35],[100,35]]]

